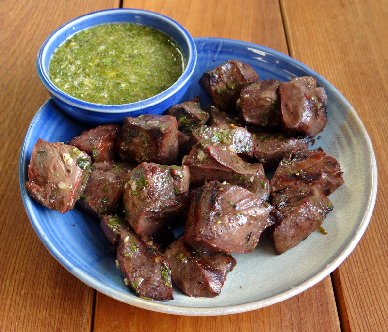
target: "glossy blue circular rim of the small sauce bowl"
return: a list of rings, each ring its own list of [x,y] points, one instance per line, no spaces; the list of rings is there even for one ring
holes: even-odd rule
[[[48,68],[45,66],[45,60],[49,59],[52,56],[52,53],[48,52],[48,47],[51,45],[51,43],[57,38],[58,36],[62,35],[64,32],[68,32],[74,29],[74,26],[78,23],[81,23],[85,20],[92,20],[93,18],[98,17],[106,17],[107,15],[117,15],[117,14],[137,14],[137,15],[143,15],[143,16],[151,16],[155,19],[162,20],[166,23],[168,23],[171,27],[174,27],[177,31],[180,31],[182,36],[184,37],[185,42],[187,43],[188,47],[188,54],[187,54],[187,63],[186,68],[183,71],[182,75],[178,78],[178,80],[172,84],[170,87],[168,87],[166,90],[156,94],[155,96],[152,96],[150,98],[134,102],[134,103],[128,103],[128,104],[96,104],[96,103],[90,103],[78,98],[75,98],[61,89],[59,89],[50,79],[48,74]],[[104,22],[104,23],[115,23],[119,22],[118,20],[112,20],[111,22]],[[129,21],[131,22],[131,21]],[[62,45],[67,39],[71,38],[75,33],[85,30],[88,28],[91,28],[93,26],[104,24],[104,23],[97,23],[94,24],[86,24],[81,29],[74,31],[74,33],[70,33],[68,36],[65,37],[65,39],[62,40],[59,43],[59,45]],[[157,29],[157,28],[154,28]],[[162,31],[162,30],[161,30]],[[162,31],[163,32],[163,31]],[[164,32],[165,33],[165,32]],[[146,109],[148,107],[152,107],[155,105],[158,105],[162,103],[163,101],[167,100],[171,96],[175,94],[176,91],[179,91],[182,89],[189,80],[191,80],[191,76],[194,72],[194,68],[196,65],[197,60],[197,52],[196,52],[196,46],[194,43],[193,37],[190,35],[190,33],[177,21],[173,20],[172,18],[162,15],[160,13],[151,12],[144,9],[134,9],[134,8],[111,8],[111,9],[104,9],[96,12],[91,12],[88,14],[84,14],[81,16],[78,16],[74,19],[71,19],[70,21],[67,21],[60,27],[58,27],[56,30],[52,31],[49,36],[46,38],[46,40],[43,42],[41,47],[39,48],[37,58],[36,58],[36,69],[39,75],[40,80],[42,81],[45,88],[49,91],[50,95],[55,96],[65,104],[68,104],[69,106],[74,106],[76,108],[85,109],[88,111],[93,111],[97,113],[128,113],[131,111],[139,111],[142,109]]]

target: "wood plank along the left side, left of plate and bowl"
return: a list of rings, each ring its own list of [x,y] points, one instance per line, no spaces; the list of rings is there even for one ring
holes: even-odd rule
[[[23,136],[49,97],[38,49],[62,23],[118,0],[1,1],[0,331],[90,331],[95,291],[67,272],[34,233],[18,185]]]

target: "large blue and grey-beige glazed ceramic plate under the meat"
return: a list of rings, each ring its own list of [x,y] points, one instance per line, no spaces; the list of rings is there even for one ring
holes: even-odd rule
[[[294,296],[332,272],[354,249],[372,215],[377,190],[376,161],[367,132],[356,112],[329,82],[302,63],[274,50],[241,41],[196,38],[198,60],[184,100],[199,95],[209,100],[197,81],[204,71],[229,59],[249,63],[260,79],[281,81],[316,76],[328,95],[328,122],[313,148],[321,146],[337,158],[345,183],[330,199],[334,210],[297,247],[278,256],[266,237],[250,254],[233,255],[237,266],[216,298],[190,298],[174,289],[172,301],[139,299],[124,285],[115,257],[99,223],[75,208],[62,215],[33,201],[25,187],[32,147],[40,137],[66,142],[88,127],[74,120],[50,99],[38,110],[24,139],[20,156],[20,188],[25,209],[40,240],[72,274],[99,292],[131,305],[178,315],[225,315],[265,307]]]

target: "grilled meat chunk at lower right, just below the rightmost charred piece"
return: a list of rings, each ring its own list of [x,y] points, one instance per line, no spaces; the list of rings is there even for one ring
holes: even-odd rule
[[[298,183],[276,193],[272,204],[284,216],[270,227],[269,235],[277,254],[293,248],[317,230],[333,204],[312,183]]]

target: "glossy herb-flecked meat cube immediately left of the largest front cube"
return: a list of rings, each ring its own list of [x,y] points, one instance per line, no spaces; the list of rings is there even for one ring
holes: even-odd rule
[[[127,174],[123,188],[129,224],[137,234],[152,235],[187,209],[189,170],[144,162]]]

